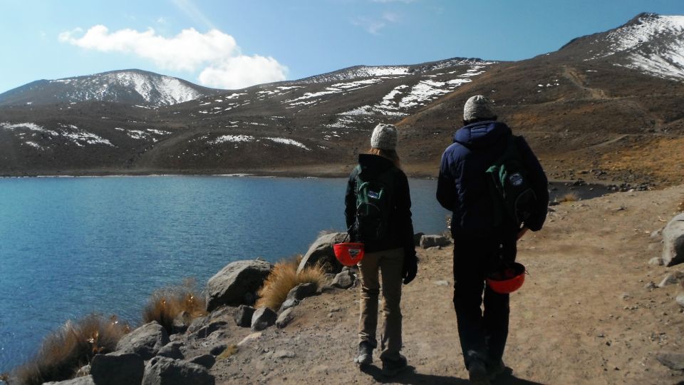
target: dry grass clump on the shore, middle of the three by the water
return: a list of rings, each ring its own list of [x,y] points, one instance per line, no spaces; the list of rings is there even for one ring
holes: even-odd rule
[[[173,320],[182,314],[187,324],[207,314],[206,300],[196,289],[195,281],[186,279],[180,286],[166,287],[152,293],[142,310],[142,321],[156,321],[172,334]]]

